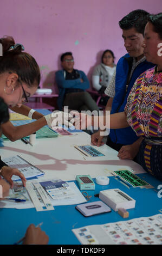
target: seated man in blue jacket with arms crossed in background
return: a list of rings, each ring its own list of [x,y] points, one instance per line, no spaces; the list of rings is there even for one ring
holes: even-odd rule
[[[78,111],[98,111],[99,107],[88,92],[89,81],[81,70],[73,69],[74,58],[72,52],[65,52],[61,55],[62,70],[56,72],[56,83],[59,88],[57,105],[59,110],[63,106]]]

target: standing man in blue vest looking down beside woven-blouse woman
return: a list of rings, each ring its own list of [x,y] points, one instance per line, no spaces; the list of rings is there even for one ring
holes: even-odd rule
[[[111,97],[109,102],[113,102],[111,114],[124,111],[127,97],[135,80],[145,70],[154,66],[152,63],[147,62],[144,56],[144,48],[142,47],[147,15],[147,11],[134,10],[119,21],[124,46],[128,53],[119,59],[116,66],[116,74],[113,75],[114,79],[112,78],[112,86],[115,88],[113,101],[112,94],[110,95],[108,91],[106,92]],[[110,91],[112,92],[112,88],[110,88]],[[110,110],[109,102],[107,103],[106,110]],[[98,146],[103,144],[102,139],[103,136],[100,136],[100,130],[91,137],[92,143]],[[137,139],[138,137],[131,127],[111,129],[106,144],[119,151],[123,145],[132,144]]]

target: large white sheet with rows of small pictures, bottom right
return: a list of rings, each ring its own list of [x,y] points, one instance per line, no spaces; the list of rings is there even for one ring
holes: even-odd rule
[[[82,245],[162,245],[162,214],[72,229]]]

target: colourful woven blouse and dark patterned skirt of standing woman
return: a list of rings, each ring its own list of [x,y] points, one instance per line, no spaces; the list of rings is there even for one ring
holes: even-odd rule
[[[156,67],[146,70],[135,81],[127,99],[125,112],[127,121],[137,136],[144,136],[153,140],[158,139],[158,146],[147,143],[147,141],[144,142],[145,145],[142,143],[143,152],[140,150],[139,153],[144,154],[144,163],[140,162],[140,164],[151,174],[154,175],[155,172],[158,172],[158,176],[162,175],[160,166],[162,151],[162,72],[156,72]],[[152,154],[152,152],[154,153]],[[141,157],[140,161],[142,161]],[[155,157],[158,157],[159,167],[155,167],[153,162]],[[153,170],[154,168],[156,170]]]

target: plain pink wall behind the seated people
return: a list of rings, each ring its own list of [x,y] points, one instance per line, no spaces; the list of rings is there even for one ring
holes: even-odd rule
[[[126,53],[118,22],[134,9],[158,13],[161,0],[5,0],[0,36],[25,46],[40,65],[43,86],[51,88],[63,52],[72,51],[75,68],[89,78],[103,50],[111,49],[117,62]]]

